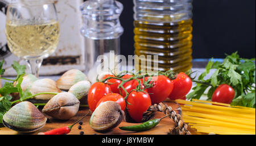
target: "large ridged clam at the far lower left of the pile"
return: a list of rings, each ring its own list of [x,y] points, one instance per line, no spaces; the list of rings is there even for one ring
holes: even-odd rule
[[[31,103],[20,102],[3,115],[3,125],[19,132],[34,132],[44,127],[47,118]]]

